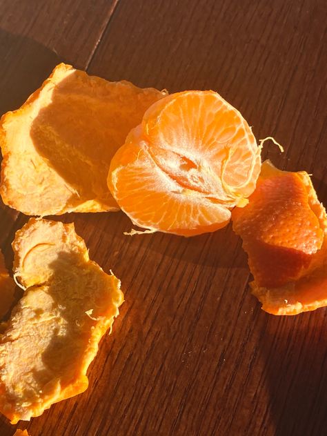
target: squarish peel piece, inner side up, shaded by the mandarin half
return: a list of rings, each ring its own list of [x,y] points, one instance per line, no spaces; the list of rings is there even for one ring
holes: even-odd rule
[[[118,210],[106,183],[110,160],[164,95],[61,63],[1,118],[3,202],[40,216]]]

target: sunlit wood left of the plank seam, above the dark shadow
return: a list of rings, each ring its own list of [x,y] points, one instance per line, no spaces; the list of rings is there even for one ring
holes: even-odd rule
[[[116,5],[117,0],[2,0],[0,28],[86,68]]]

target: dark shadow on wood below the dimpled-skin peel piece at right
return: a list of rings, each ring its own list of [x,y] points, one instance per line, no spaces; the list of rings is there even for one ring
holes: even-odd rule
[[[321,308],[270,317],[261,337],[276,436],[320,436],[326,430],[326,315]]]

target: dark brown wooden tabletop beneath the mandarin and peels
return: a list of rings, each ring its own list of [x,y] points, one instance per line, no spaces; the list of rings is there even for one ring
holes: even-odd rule
[[[279,168],[307,170],[327,203],[326,1],[2,0],[0,112],[66,61],[138,86],[217,90]],[[327,312],[273,317],[250,295],[230,228],[126,237],[122,212],[71,214],[126,301],[90,387],[30,423],[31,436],[324,436]],[[1,207],[1,248],[27,217]],[[16,427],[1,417],[0,435]]]

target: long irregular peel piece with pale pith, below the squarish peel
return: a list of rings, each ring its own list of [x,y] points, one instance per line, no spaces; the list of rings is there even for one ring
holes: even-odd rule
[[[12,247],[26,290],[0,339],[0,411],[15,424],[86,390],[86,370],[123,294],[90,261],[72,224],[32,218]]]

